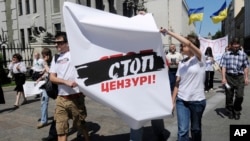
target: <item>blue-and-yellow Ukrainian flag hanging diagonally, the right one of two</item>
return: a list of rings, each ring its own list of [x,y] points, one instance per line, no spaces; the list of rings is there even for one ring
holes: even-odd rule
[[[227,3],[225,1],[221,6],[221,8],[215,13],[213,13],[213,15],[210,16],[210,18],[212,19],[213,23],[216,24],[223,21],[226,17],[227,17]]]

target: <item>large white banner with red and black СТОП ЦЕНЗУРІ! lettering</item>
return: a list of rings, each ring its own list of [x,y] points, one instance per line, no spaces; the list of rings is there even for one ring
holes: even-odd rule
[[[133,18],[65,2],[63,17],[77,83],[138,129],[171,115],[161,34],[152,14]]]

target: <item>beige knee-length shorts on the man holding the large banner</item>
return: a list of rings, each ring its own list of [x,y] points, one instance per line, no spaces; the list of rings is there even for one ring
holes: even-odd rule
[[[87,117],[87,111],[85,107],[84,95],[79,95],[77,98],[64,98],[58,96],[56,99],[56,109],[54,118],[56,120],[56,130],[58,135],[64,135],[68,133],[69,124],[68,120],[72,119],[78,130],[86,128],[85,118]]]

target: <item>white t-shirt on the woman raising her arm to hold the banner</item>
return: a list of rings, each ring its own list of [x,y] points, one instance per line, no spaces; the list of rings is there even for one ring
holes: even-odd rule
[[[184,59],[185,60],[185,59]],[[178,97],[184,101],[201,101],[206,99],[204,94],[206,58],[201,61],[196,56],[186,62],[181,61],[176,76],[180,77]]]

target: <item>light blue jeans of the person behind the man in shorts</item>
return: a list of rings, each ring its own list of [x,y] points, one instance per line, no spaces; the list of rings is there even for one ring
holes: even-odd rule
[[[49,97],[47,92],[42,89],[41,94],[41,123],[47,123],[48,121],[48,104],[49,104]]]

